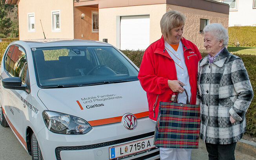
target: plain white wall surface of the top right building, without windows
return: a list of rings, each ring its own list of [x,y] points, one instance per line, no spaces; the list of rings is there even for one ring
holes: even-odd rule
[[[253,0],[238,0],[237,11],[229,11],[229,27],[256,26],[256,9]]]

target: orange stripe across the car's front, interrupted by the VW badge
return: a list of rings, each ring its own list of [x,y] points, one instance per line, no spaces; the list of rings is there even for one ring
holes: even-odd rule
[[[148,111],[146,112],[141,112],[141,113],[136,113],[134,116],[138,118],[142,117],[147,117],[148,116]],[[102,124],[110,124],[110,123],[116,123],[116,122],[121,122],[123,116],[118,116],[118,117],[112,117],[112,118],[105,118],[105,119],[98,119],[98,120],[93,120],[93,121],[88,121],[91,126],[99,126]]]

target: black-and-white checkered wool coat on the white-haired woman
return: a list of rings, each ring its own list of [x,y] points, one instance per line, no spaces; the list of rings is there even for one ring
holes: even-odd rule
[[[197,104],[200,104],[200,137],[206,143],[231,144],[246,130],[245,113],[253,91],[240,57],[224,48],[210,64],[199,60]],[[236,121],[231,124],[229,116]]]

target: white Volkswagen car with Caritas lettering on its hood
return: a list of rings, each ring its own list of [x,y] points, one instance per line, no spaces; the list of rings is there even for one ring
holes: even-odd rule
[[[32,159],[157,159],[138,70],[108,43],[14,41],[1,63],[0,123]]]

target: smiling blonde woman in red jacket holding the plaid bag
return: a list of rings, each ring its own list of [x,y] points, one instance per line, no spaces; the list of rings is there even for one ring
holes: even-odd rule
[[[197,64],[201,55],[195,44],[182,37],[185,16],[177,11],[166,12],[161,21],[161,39],[144,52],[139,81],[147,93],[149,117],[156,121],[159,101],[170,102],[170,95],[180,92],[178,103],[196,103]],[[160,148],[161,160],[188,160],[191,149]]]

